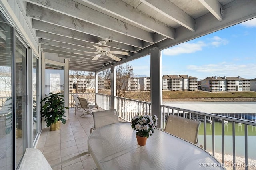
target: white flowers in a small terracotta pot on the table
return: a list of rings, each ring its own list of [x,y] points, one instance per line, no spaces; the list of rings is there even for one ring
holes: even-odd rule
[[[157,126],[157,117],[153,115],[135,116],[132,118],[131,127],[136,132],[138,144],[144,146],[149,136],[154,133],[154,128]]]

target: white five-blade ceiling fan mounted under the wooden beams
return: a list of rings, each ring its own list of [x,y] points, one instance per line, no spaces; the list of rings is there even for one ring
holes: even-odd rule
[[[96,48],[96,52],[83,52],[83,53],[94,53],[97,54],[92,60],[96,60],[98,59],[101,55],[106,55],[116,61],[121,61],[120,58],[116,57],[113,54],[120,54],[120,55],[129,55],[127,52],[122,52],[122,51],[110,51],[110,48],[105,47],[104,45],[106,45],[107,41],[102,39],[98,42],[98,44],[100,44],[101,46],[96,46],[93,45]],[[75,54],[83,54],[83,53],[75,53]]]

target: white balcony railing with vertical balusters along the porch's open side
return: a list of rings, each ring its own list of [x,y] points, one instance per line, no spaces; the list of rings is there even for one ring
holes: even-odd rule
[[[99,106],[103,109],[110,109],[111,96],[97,94],[97,103],[100,103]],[[118,117],[126,121],[130,121],[138,114],[151,115],[151,103],[123,97],[114,97],[114,108],[118,112]],[[254,118],[250,121],[245,120],[246,117],[238,119],[161,105],[161,116],[158,118],[158,121],[161,121],[161,128],[164,128],[170,114],[201,121],[198,142],[226,168],[229,166],[235,170],[243,166],[247,170],[256,167],[256,113],[251,114]],[[232,160],[228,160],[230,157]]]

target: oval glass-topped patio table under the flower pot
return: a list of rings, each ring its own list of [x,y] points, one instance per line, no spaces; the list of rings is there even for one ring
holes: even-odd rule
[[[130,122],[96,129],[88,137],[88,150],[100,170],[225,169],[202,148],[159,129],[140,146]]]

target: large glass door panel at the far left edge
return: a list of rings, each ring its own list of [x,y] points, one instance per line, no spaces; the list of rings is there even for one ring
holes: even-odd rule
[[[0,169],[14,169],[12,50],[13,28],[0,12]]]

